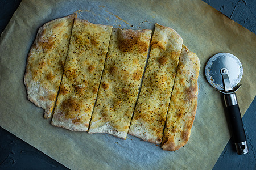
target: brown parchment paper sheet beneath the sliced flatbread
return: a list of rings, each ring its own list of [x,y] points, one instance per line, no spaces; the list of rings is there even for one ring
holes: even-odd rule
[[[126,29],[174,28],[201,62],[199,105],[191,137],[175,152],[128,135],[88,134],[56,128],[27,100],[23,76],[38,28],[79,11],[79,18]],[[237,91],[241,114],[255,96],[254,33],[203,1],[28,1],[16,10],[0,39],[0,125],[71,169],[212,169],[230,138],[222,95],[204,76],[210,56],[229,52],[243,65]]]

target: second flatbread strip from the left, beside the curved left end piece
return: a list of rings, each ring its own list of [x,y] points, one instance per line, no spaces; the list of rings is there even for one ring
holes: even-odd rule
[[[75,19],[52,125],[88,130],[111,32],[112,26]]]

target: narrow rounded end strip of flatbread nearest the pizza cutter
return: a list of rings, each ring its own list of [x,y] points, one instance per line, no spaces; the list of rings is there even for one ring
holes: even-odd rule
[[[189,139],[197,108],[199,69],[199,58],[183,45],[161,143],[163,150],[178,150]]]

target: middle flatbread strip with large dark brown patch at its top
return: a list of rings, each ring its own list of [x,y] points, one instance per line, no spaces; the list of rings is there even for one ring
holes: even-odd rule
[[[146,63],[151,30],[113,29],[88,133],[126,139]]]

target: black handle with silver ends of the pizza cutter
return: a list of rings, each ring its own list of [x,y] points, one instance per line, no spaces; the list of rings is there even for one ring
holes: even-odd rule
[[[237,103],[237,96],[235,93],[224,95],[226,113],[230,120],[232,135],[237,148],[237,154],[247,154],[248,146],[246,142],[245,129],[243,129],[243,122],[240,114],[240,109]]]

